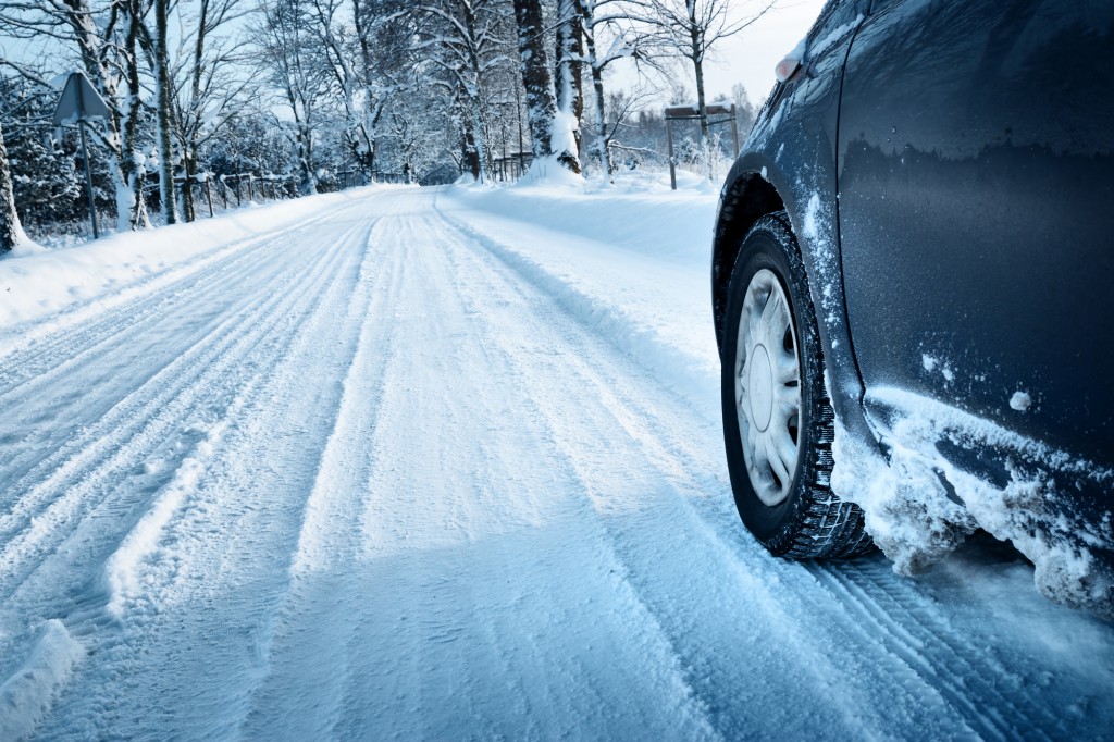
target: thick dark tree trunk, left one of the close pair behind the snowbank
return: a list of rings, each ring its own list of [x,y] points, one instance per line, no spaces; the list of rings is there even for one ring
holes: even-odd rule
[[[515,20],[518,23],[518,53],[522,58],[520,69],[526,90],[526,118],[530,126],[530,150],[534,159],[539,160],[553,154],[553,127],[557,117],[540,0],[515,0]]]

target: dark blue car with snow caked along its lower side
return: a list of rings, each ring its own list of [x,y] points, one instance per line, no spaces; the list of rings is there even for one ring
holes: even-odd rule
[[[735,501],[915,573],[977,528],[1114,615],[1114,2],[837,0],[723,188]]]

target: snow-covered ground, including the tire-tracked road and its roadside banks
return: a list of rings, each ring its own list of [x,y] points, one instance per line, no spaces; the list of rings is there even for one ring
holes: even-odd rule
[[[0,740],[1102,739],[976,539],[768,556],[714,194],[373,187],[0,261]]]

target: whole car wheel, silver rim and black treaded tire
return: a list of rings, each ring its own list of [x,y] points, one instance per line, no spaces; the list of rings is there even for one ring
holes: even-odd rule
[[[834,413],[815,311],[784,212],[763,216],[746,234],[727,291],[723,433],[739,515],[778,556],[870,550],[862,511],[828,485]]]

